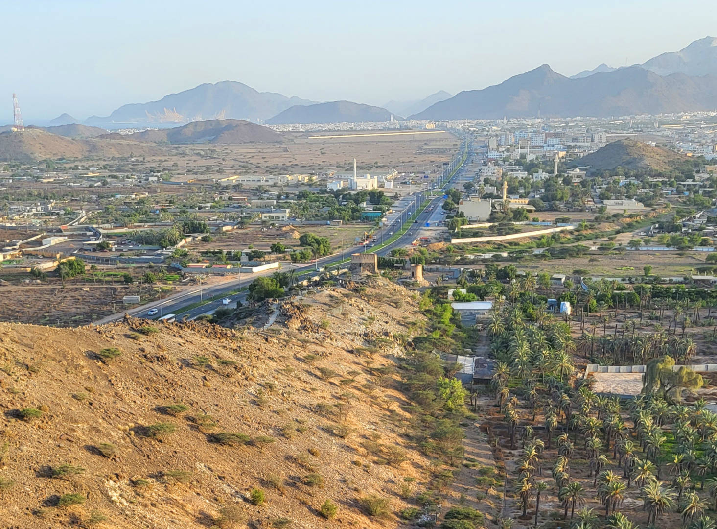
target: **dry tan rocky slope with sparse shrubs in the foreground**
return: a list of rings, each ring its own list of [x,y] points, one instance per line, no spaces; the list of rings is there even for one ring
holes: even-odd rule
[[[293,528],[396,527],[358,500],[381,495],[397,512],[404,477],[416,478],[414,492],[426,479],[427,460],[403,435],[398,377],[381,369],[401,353],[391,330],[407,333],[420,315],[406,290],[373,281],[370,294],[286,301],[266,331],[130,318],[0,324],[0,485],[14,480],[2,525],[84,527],[105,516],[101,528],[269,528],[281,518]],[[369,440],[407,459],[381,460]],[[263,505],[249,501],[253,487]],[[69,494],[82,503],[57,505]],[[326,500],[338,506],[333,520],[317,512]],[[222,520],[223,507],[242,522]]]

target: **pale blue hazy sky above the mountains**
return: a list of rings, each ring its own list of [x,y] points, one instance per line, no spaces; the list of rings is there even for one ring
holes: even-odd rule
[[[201,83],[382,105],[573,75],[715,36],[708,1],[2,1],[0,123],[84,120]]]

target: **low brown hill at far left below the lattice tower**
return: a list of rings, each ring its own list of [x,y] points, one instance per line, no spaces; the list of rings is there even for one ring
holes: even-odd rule
[[[0,134],[0,161],[32,162],[47,158],[80,159],[87,157],[152,156],[161,154],[157,146],[136,141],[108,141],[97,138],[72,139],[39,128]]]

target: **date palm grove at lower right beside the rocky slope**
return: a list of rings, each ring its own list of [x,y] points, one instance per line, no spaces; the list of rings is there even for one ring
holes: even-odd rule
[[[607,337],[606,325],[602,343],[589,332],[576,342],[567,322],[521,308],[525,296],[499,303],[488,324],[498,360],[490,393],[505,425],[503,447],[514,456],[508,492],[512,487],[523,525],[563,525],[564,518],[576,529],[713,529],[717,414],[702,399],[683,403],[683,393],[703,380],[673,369],[667,354],[688,360],[694,344],[678,336],[677,325],[644,336],[632,327],[632,337],[617,327]],[[574,354],[596,354],[596,343],[597,354],[647,362],[641,395],[597,395],[592,378],[576,377]],[[558,510],[541,512],[556,502]]]

